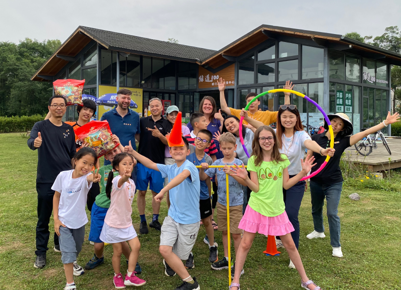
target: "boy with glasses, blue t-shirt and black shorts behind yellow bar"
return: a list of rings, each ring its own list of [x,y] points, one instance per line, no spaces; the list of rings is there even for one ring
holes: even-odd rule
[[[199,130],[195,137],[194,149],[192,149],[191,153],[186,156],[186,159],[191,161],[195,166],[202,165],[204,166],[204,168],[208,168],[209,165],[212,165],[212,158],[207,153],[205,153],[205,149],[211,144],[212,137],[213,136],[211,131],[207,129]],[[200,180],[199,209],[200,219],[202,219],[202,222],[206,229],[206,237],[204,238],[204,241],[209,245],[209,261],[213,263],[218,260],[218,250],[212,225],[212,203],[210,199],[212,195],[211,185],[212,184],[210,178],[206,178],[206,180]],[[186,260],[185,267],[193,267],[191,254],[189,254],[189,257]]]

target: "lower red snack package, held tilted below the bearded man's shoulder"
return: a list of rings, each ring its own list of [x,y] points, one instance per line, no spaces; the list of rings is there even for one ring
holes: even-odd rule
[[[89,143],[89,147],[95,150],[98,157],[119,145],[111,139],[112,133],[108,121],[90,121],[77,128],[75,134],[82,143]]]

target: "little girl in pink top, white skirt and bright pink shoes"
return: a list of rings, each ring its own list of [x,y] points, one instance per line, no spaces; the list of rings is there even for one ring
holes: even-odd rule
[[[110,198],[110,207],[106,217],[100,239],[113,244],[114,285],[117,289],[125,285],[141,286],[146,281],[135,274],[135,265],[139,256],[141,244],[132,225],[132,200],[134,199],[135,183],[130,178],[134,164],[134,157],[128,153],[118,153],[112,161],[113,171],[109,173],[106,185],[106,195]],[[118,175],[117,175],[118,172]],[[114,175],[117,175],[114,177]],[[123,278],[120,272],[122,243],[128,241],[131,253],[128,259],[128,270]]]

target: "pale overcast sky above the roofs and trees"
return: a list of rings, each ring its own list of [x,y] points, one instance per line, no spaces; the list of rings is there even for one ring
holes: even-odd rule
[[[216,50],[261,24],[373,37],[401,29],[400,0],[1,0],[1,10],[0,41],[16,43],[64,42],[79,25]]]

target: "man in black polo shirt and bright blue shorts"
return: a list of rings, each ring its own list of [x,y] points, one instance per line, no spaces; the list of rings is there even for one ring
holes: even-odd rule
[[[172,124],[163,118],[161,115],[162,104],[161,100],[157,97],[152,98],[149,101],[151,115],[147,117],[140,118],[140,134],[138,153],[149,158],[155,163],[164,164],[164,149],[166,143],[163,143],[156,135],[156,130],[160,131],[163,135],[166,135],[172,129]],[[164,178],[161,177],[159,171],[147,168],[138,162],[137,171],[137,189],[138,196],[136,199],[138,205],[139,216],[141,218],[141,223],[139,225],[140,233],[148,233],[147,223],[145,218],[145,196],[147,186],[152,191],[153,197],[160,192],[163,188]],[[159,222],[159,210],[160,203],[157,203],[152,198],[152,208],[153,208],[153,218],[149,223],[150,227],[154,227],[157,230],[161,229],[161,224]]]

